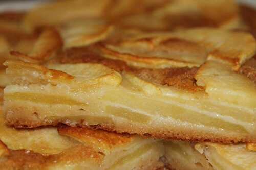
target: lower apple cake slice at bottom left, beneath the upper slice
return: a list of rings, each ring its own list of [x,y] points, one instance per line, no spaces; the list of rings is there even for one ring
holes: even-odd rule
[[[0,169],[153,170],[163,166],[159,140],[63,125],[58,131],[7,127],[1,111]]]

